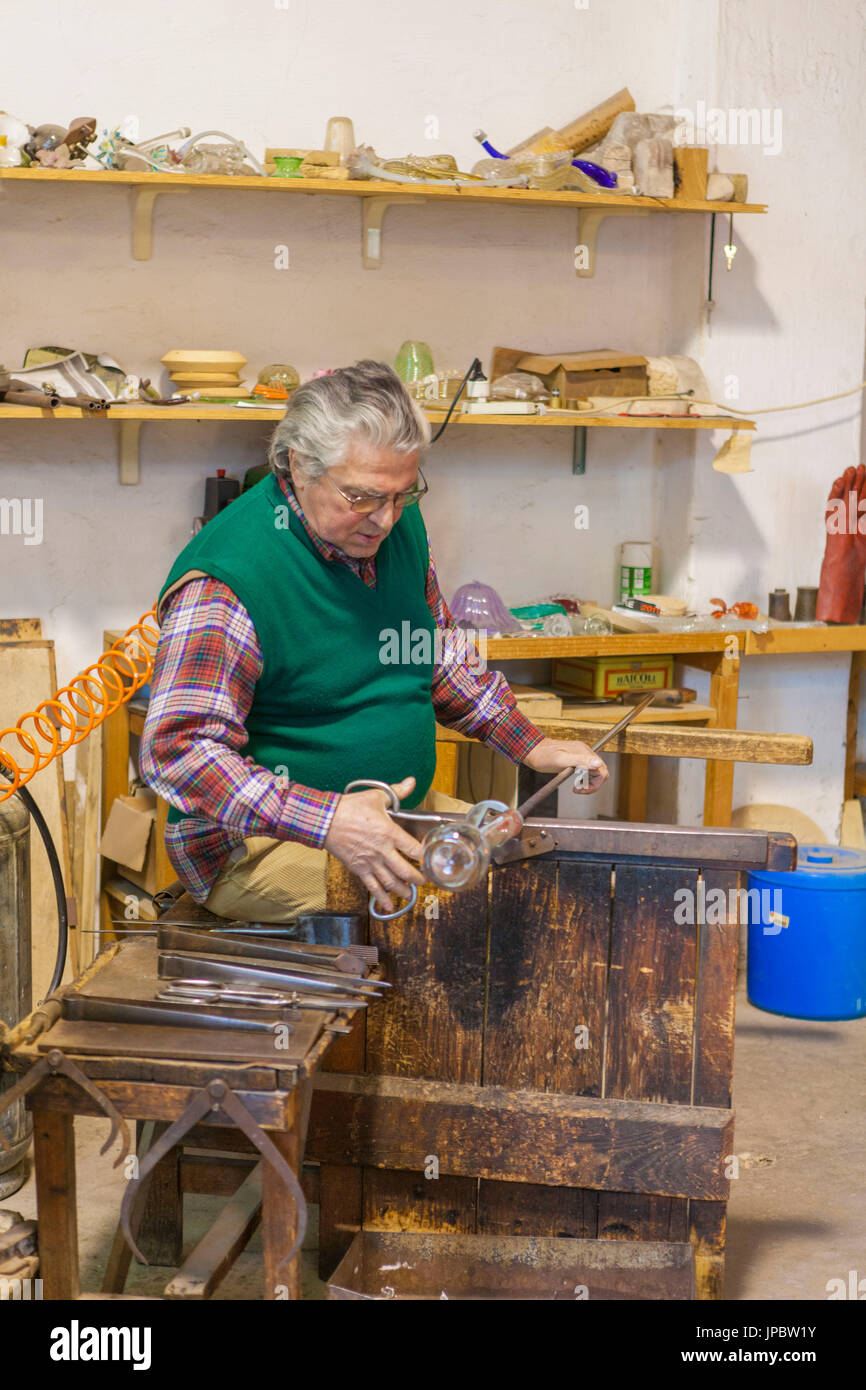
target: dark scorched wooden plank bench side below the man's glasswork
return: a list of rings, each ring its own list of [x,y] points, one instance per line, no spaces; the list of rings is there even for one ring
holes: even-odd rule
[[[791,869],[795,842],[548,828],[581,851],[493,869],[463,894],[421,888],[411,913],[368,922],[395,988],[314,1083],[325,1277],[359,1229],[691,1241],[698,1297],[721,1297],[731,890],[746,869]],[[699,880],[724,894],[706,926],[676,910]],[[367,905],[336,862],[328,901]]]

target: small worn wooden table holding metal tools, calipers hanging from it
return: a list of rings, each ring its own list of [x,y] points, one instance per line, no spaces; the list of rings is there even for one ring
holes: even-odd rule
[[[147,980],[147,966],[143,963],[147,948],[150,948],[154,962],[152,981]],[[106,994],[113,992],[117,988],[117,973],[113,974],[111,987],[103,984],[108,967],[114,965],[117,970],[124,956],[132,958],[135,952],[138,956],[132,963],[133,973],[140,977],[146,991],[150,986],[154,990],[156,941],[152,937],[147,942],[140,938],[128,938],[107,947],[89,970],[83,972],[61,992],[100,994],[103,990]],[[124,997],[126,995],[124,994]],[[19,1023],[6,1040],[10,1048],[6,1066],[24,1073],[42,1061],[51,1048],[60,1048],[70,1061],[86,1073],[125,1119],[143,1122],[143,1143],[139,1143],[139,1156],[147,1151],[150,1140],[158,1138],[164,1127],[185,1112],[190,1099],[203,1087],[214,1079],[221,1079],[228,1083],[256,1123],[267,1131],[289,1168],[299,1175],[303,1161],[311,1076],[321,1065],[334,1040],[334,1034],[328,1033],[325,1026],[329,1020],[343,1016],[325,1011],[306,1012],[303,1024],[310,1020],[310,1026],[303,1036],[309,1034],[311,1041],[306,1049],[302,1049],[303,1055],[297,1062],[295,1056],[286,1058],[285,1054],[279,1061],[274,1040],[263,1036],[256,1036],[263,1037],[260,1044],[263,1059],[238,1061],[243,1052],[243,1047],[238,1044],[249,1038],[249,1034],[232,1030],[225,1033],[213,1030],[207,1034],[209,1048],[204,1055],[210,1054],[210,1061],[195,1059],[196,1052],[202,1058],[200,1045],[199,1048],[195,1045],[186,1048],[192,1054],[192,1059],[190,1056],[177,1059],[167,1055],[170,1042],[157,1047],[156,1041],[152,1044],[154,1055],[147,1055],[145,1049],[142,1049],[142,1055],[135,1055],[135,1045],[125,1047],[125,1051],[132,1055],[117,1055],[118,1049],[122,1049],[120,1044],[132,1034],[146,1031],[156,1040],[157,1034],[172,1033],[177,1040],[178,1034],[185,1034],[188,1038],[193,1034],[199,1036],[200,1030],[197,1029],[145,1029],[142,1024],[85,1023],[60,1019],[28,1044],[24,1037],[35,1017],[36,1015],[31,1015],[29,1019]],[[299,1023],[299,1031],[300,1027]],[[247,1045],[250,1051],[254,1051],[252,1044]],[[39,1081],[26,1097],[26,1104],[33,1116],[39,1257],[44,1298],[78,1298],[81,1284],[74,1125],[76,1115],[101,1115],[103,1111],[65,1076],[51,1076]],[[227,1122],[225,1116],[220,1118],[217,1113],[211,1118],[209,1115],[190,1134],[193,1141],[196,1136],[199,1137],[199,1145],[203,1136],[209,1148],[234,1150],[236,1166],[234,1179],[229,1175],[228,1183],[222,1176],[215,1186],[210,1182],[188,1188],[222,1191],[231,1195],[215,1225],[188,1255],[183,1266],[168,1284],[167,1294],[170,1297],[210,1297],[252,1233],[261,1225],[265,1298],[297,1298],[300,1255],[296,1254],[291,1261],[286,1259],[297,1230],[296,1208],[279,1176],[267,1162],[254,1163],[260,1155],[246,1137]],[[232,1136],[236,1136],[242,1143],[234,1141]],[[139,1138],[142,1138],[142,1129]],[[242,1162],[238,1161],[239,1152],[243,1154]],[[253,1162],[250,1162],[249,1155],[253,1155]],[[106,1155],[104,1162],[110,1163],[111,1161],[113,1155]],[[174,1223],[168,1245],[177,1247],[179,1254],[179,1237],[182,1236],[179,1150],[171,1151],[168,1162],[163,1161],[154,1170],[154,1177],[157,1175],[164,1188],[168,1182],[167,1190],[161,1193],[163,1220],[170,1227]],[[174,1193],[168,1190],[172,1183]],[[174,1198],[174,1201],[167,1198]],[[147,1241],[140,1241],[145,1252],[153,1262],[171,1262],[171,1255],[168,1259],[164,1255],[154,1255],[154,1234],[158,1245],[160,1234],[150,1229]],[[129,1261],[131,1251],[118,1230],[103,1284],[106,1294],[117,1294],[122,1290]]]

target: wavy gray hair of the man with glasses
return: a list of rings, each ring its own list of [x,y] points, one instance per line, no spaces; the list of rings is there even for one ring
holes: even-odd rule
[[[378,449],[413,453],[430,443],[430,424],[396,371],[364,359],[316,377],[292,393],[274,430],[268,463],[289,480],[289,449],[307,478],[339,467],[354,439]]]

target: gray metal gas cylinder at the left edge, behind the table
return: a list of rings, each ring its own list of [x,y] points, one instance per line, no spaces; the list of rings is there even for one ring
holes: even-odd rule
[[[31,817],[18,799],[0,802],[0,1034],[32,1008],[31,997]],[[17,1076],[0,1072],[0,1095]],[[10,1152],[0,1147],[0,1202],[17,1193],[26,1177],[24,1161],[32,1122],[17,1101],[0,1118]]]

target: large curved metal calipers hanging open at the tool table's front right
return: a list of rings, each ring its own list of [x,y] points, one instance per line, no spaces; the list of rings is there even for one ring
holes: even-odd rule
[[[215,1077],[213,1081],[209,1081],[203,1090],[195,1093],[192,1101],[179,1119],[177,1119],[174,1125],[168,1126],[168,1129],[158,1137],[153,1148],[147,1150],[147,1154],[142,1159],[139,1168],[139,1176],[126,1184],[121,1207],[121,1229],[129,1248],[143,1265],[146,1265],[147,1261],[135,1243],[131,1225],[135,1200],[142,1190],[142,1183],[150,1177],[160,1159],[165,1158],[175,1144],[181,1143],[185,1134],[189,1134],[190,1129],[202,1123],[206,1116],[213,1119],[217,1112],[224,1115],[227,1119],[234,1120],[238,1129],[246,1134],[250,1143],[261,1154],[264,1162],[270,1163],[292,1197],[297,1212],[297,1230],[295,1232],[295,1240],[292,1241],[291,1250],[284,1257],[284,1264],[288,1264],[288,1261],[297,1254],[303,1244],[303,1238],[307,1232],[307,1204],[296,1175],[292,1172],[274,1141],[268,1138],[265,1131],[256,1123],[246,1105],[238,1095],[235,1095],[228,1081],[224,1081],[222,1077]]]

